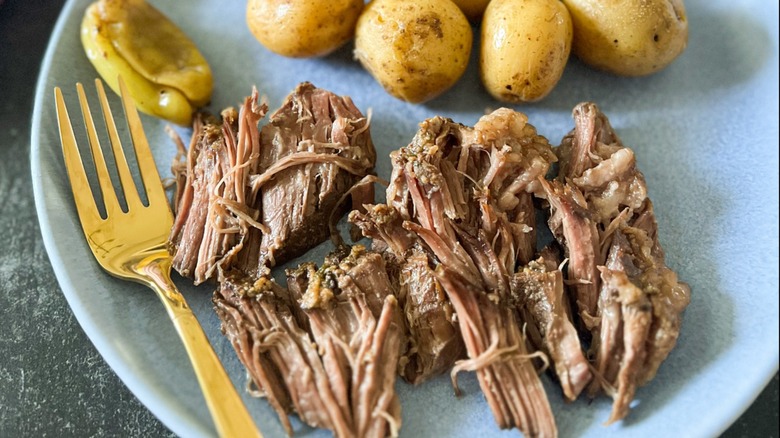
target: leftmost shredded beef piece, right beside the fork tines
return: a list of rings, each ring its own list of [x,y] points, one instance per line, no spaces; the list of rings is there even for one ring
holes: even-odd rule
[[[257,190],[249,187],[259,166],[257,123],[265,112],[255,89],[238,113],[223,111],[221,123],[195,123],[169,238],[173,268],[195,284],[230,269],[251,229],[266,231],[257,222]]]

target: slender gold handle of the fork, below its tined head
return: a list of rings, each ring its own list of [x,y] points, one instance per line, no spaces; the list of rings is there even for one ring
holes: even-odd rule
[[[219,436],[260,437],[260,431],[211,348],[203,328],[171,281],[171,257],[167,251],[147,257],[146,262],[136,268],[148,279],[148,286],[157,292],[184,343]]]

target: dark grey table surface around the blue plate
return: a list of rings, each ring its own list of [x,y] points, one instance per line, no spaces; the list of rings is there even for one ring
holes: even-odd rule
[[[0,437],[169,436],[79,327],[41,240],[30,120],[63,3],[0,0]],[[778,436],[777,375],[723,436]]]

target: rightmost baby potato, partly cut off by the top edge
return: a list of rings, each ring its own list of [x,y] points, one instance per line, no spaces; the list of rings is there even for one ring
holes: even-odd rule
[[[688,44],[682,0],[564,0],[574,23],[572,51],[623,76],[655,73]]]

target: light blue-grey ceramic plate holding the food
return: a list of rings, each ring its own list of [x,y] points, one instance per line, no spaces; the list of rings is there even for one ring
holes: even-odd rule
[[[257,85],[272,108],[298,82],[352,96],[373,113],[377,171],[405,145],[419,121],[445,115],[473,124],[500,103],[482,90],[476,57],[451,91],[425,105],[389,97],[352,59],[351,47],[310,60],[276,56],[258,44],[243,2],[154,2],[188,33],[215,78],[212,112],[237,105]],[[105,275],[83,239],[60,153],[52,88],[64,87],[78,114],[75,82],[96,72],[79,41],[88,1],[65,6],[41,69],[32,125],[32,180],[46,250],[74,314],[106,362],[157,417],[181,436],[213,436],[214,427],[183,347],[162,306],[142,286]],[[771,10],[768,10],[771,9]],[[617,78],[572,60],[553,93],[514,108],[557,144],[572,127],[571,109],[592,100],[637,155],[654,200],[668,264],[691,285],[677,348],[636,395],[627,420],[604,427],[610,402],[565,404],[545,377],[561,436],[715,436],[754,400],[778,369],[778,5],[759,0],[691,1],[687,51],[663,72]],[[476,51],[475,51],[476,55]],[[93,98],[94,100],[94,98]],[[112,101],[118,104],[118,100]],[[118,110],[118,106],[115,107]],[[162,174],[174,146],[165,123],[143,123]],[[186,129],[180,133],[188,135]],[[307,258],[321,260],[327,245]],[[245,373],[219,332],[213,286],[177,278],[234,384]],[[419,388],[399,382],[403,436],[486,436],[499,432],[473,376],[456,398],[444,376]],[[243,392],[243,391],[242,391]],[[262,399],[243,394],[267,436],[283,436]],[[328,435],[295,423],[296,433]]]

